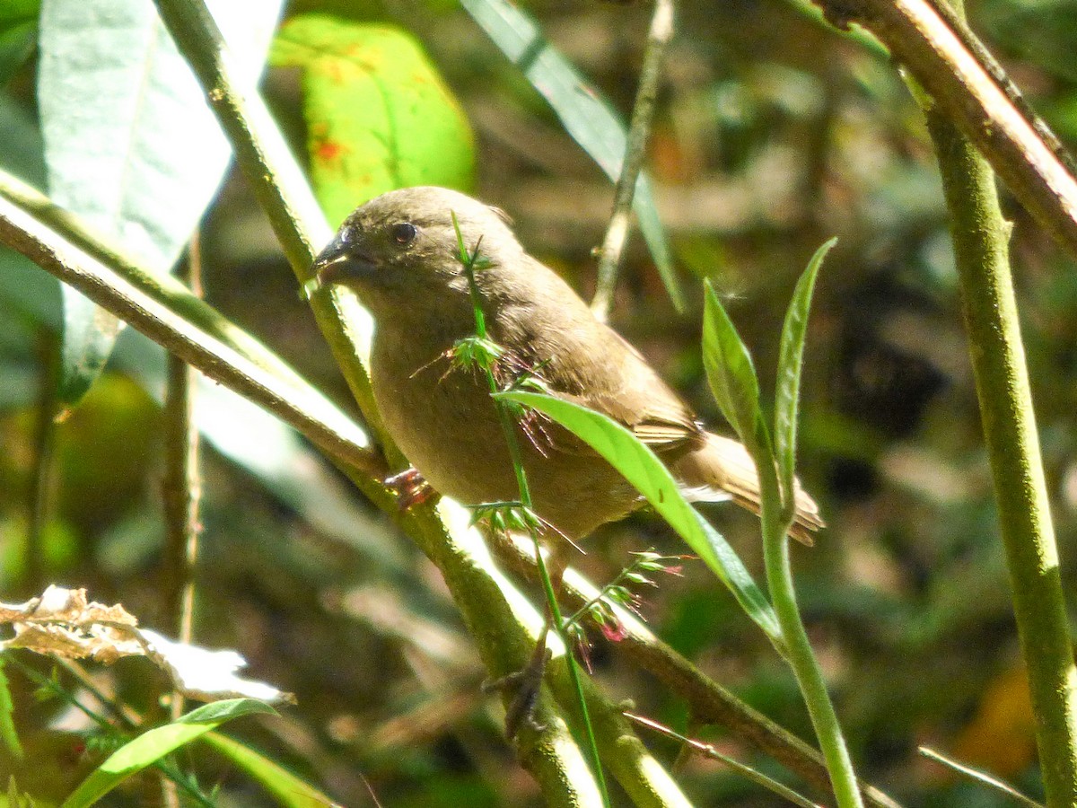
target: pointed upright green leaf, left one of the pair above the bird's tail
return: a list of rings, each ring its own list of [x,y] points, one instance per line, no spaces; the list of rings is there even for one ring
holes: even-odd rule
[[[758,447],[759,380],[747,348],[710,283],[703,310],[703,366],[726,420],[750,450]],[[752,451],[753,457],[756,454]]]

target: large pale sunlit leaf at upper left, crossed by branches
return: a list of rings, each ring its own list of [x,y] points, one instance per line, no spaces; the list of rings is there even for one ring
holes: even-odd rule
[[[261,66],[279,0],[211,2],[238,64]],[[143,0],[43,0],[38,107],[50,196],[168,271],[216,192],[229,149],[201,89]],[[122,325],[64,289],[60,399],[97,378]]]

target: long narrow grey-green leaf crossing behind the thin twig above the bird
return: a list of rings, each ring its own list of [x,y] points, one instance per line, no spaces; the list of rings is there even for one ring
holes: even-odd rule
[[[565,131],[616,181],[625,161],[627,135],[610,103],[546,41],[535,22],[519,8],[507,0],[461,0],[461,3],[554,108]],[[651,182],[643,173],[635,182],[632,208],[666,291],[677,310],[683,310],[684,294],[673,271]]]

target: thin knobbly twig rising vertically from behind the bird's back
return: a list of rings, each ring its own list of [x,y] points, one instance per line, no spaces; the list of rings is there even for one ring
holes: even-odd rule
[[[658,96],[658,80],[661,76],[662,58],[666,46],[673,38],[673,0],[655,0],[655,13],[651,18],[643,68],[640,71],[640,86],[635,92],[632,107],[632,122],[625,142],[625,159],[614,192],[613,214],[606,227],[602,250],[599,253],[598,281],[591,311],[605,321],[613,303],[614,288],[617,285],[617,268],[628,240],[632,218],[632,198],[635,183],[643,167],[651,135],[651,121],[655,114],[655,98]]]

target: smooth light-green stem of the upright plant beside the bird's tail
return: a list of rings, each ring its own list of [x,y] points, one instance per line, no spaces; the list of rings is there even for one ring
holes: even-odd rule
[[[766,446],[766,445],[764,445]],[[759,455],[771,457],[769,450]],[[826,768],[830,774],[830,784],[837,797],[839,808],[863,808],[859,784],[853,762],[841,734],[841,725],[834,710],[834,702],[826,689],[823,671],[812,652],[808,632],[805,630],[800,608],[797,605],[796,590],[793,584],[793,566],[789,560],[788,530],[791,518],[784,518],[779,492],[778,475],[773,461],[759,462],[759,485],[761,487],[763,513],[763,552],[767,568],[767,585],[770,599],[774,604],[779,625],[782,627],[782,638],[785,640],[785,658],[793,668],[793,674],[800,686],[808,714],[811,716],[815,737],[826,760]]]

